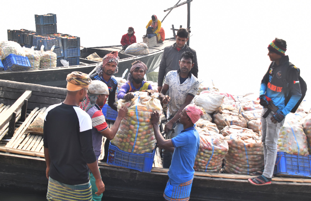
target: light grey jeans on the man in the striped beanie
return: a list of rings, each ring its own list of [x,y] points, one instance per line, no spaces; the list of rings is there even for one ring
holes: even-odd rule
[[[265,114],[267,108],[263,108],[261,114]],[[273,112],[267,116],[267,118],[261,117],[261,141],[263,145],[263,156],[265,162],[265,169],[262,173],[267,178],[272,178],[274,165],[276,161],[277,152],[277,139],[279,138],[281,127],[284,124],[285,119],[281,123],[274,124],[271,121],[271,117],[274,115]]]

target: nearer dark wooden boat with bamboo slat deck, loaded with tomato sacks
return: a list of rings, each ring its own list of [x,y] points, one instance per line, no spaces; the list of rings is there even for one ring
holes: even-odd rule
[[[0,130],[9,121],[23,118],[25,104],[27,111],[30,111],[35,107],[60,103],[65,96],[66,90],[63,88],[0,80],[0,103],[12,105],[7,110],[9,114],[0,115]],[[21,112],[18,112],[20,109]],[[12,116],[17,118],[12,121]],[[29,116],[24,118],[24,123]],[[19,129],[21,127],[23,124]],[[16,134],[19,133],[15,132],[13,140],[17,139]],[[103,195],[105,200],[164,200],[168,169],[153,168],[151,173],[143,173],[110,166],[103,161],[99,162],[99,168],[106,188]],[[45,169],[43,152],[3,147],[0,144],[0,191],[44,195],[48,185]],[[191,200],[310,200],[311,179],[273,177],[271,185],[258,187],[248,183],[250,177],[195,172]]]

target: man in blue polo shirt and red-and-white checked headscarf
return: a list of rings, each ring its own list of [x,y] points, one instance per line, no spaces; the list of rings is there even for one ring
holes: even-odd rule
[[[179,114],[179,122],[183,130],[172,139],[165,140],[159,129],[159,113],[151,113],[151,123],[159,147],[173,152],[172,163],[169,167],[164,198],[166,200],[189,200],[194,174],[194,161],[199,150],[200,138],[194,128],[197,120],[203,115],[202,110],[196,105],[187,105]]]

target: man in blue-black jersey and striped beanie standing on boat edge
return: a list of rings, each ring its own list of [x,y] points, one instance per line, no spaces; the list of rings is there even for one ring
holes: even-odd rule
[[[248,182],[253,185],[271,184],[276,161],[276,142],[281,126],[284,124],[285,116],[301,98],[298,69],[289,62],[288,56],[285,56],[286,41],[276,38],[269,44],[268,50],[272,63],[260,85],[260,105],[264,106],[262,115],[268,110],[266,107],[269,104],[269,98],[278,109],[276,112],[271,111],[266,118],[261,118],[265,168],[263,171],[251,174],[257,176],[248,179]],[[291,97],[286,104],[285,97],[289,93]]]

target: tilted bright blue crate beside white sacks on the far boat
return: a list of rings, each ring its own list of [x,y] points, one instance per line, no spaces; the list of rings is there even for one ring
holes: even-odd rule
[[[29,59],[27,57],[9,54],[3,59],[4,70],[21,71],[31,68]]]

